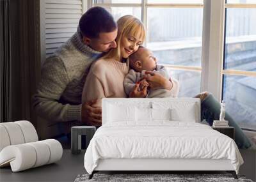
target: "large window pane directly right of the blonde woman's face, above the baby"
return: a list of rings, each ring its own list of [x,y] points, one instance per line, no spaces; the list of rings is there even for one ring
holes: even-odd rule
[[[159,63],[201,66],[202,8],[148,8],[147,47]]]

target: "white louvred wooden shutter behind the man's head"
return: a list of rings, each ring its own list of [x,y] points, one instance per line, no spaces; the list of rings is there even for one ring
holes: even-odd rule
[[[76,32],[85,9],[84,0],[40,0],[42,63]]]

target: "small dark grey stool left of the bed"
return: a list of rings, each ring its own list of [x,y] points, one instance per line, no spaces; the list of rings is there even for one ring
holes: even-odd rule
[[[86,135],[86,148],[96,131],[95,126],[72,126],[71,128],[71,153],[81,153],[81,135]]]

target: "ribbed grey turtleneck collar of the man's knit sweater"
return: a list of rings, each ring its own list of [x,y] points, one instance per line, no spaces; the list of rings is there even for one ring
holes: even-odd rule
[[[102,52],[99,52],[97,50],[93,50],[88,45],[85,45],[82,41],[82,34],[80,31],[80,28],[77,27],[76,33],[72,36],[71,41],[76,45],[77,49],[79,49],[81,52],[84,52],[85,54],[102,54]]]

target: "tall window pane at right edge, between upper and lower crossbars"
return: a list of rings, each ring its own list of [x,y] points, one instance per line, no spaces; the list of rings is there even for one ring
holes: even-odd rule
[[[256,9],[227,9],[225,69],[256,71]]]

